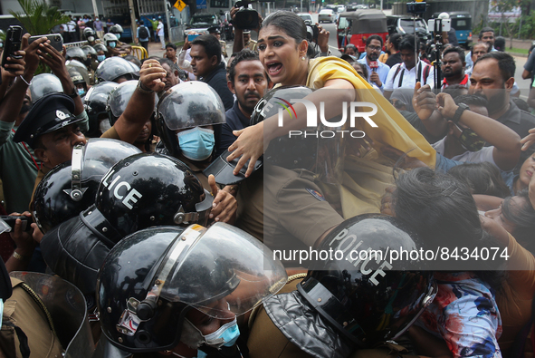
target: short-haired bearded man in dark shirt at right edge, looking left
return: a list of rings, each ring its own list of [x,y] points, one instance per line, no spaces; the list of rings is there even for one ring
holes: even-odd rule
[[[469,91],[489,102],[489,117],[524,138],[535,127],[535,117],[527,111],[521,111],[510,99],[515,70],[511,54],[498,51],[486,53],[473,64]],[[531,153],[532,150],[522,151],[519,162],[523,163]]]

